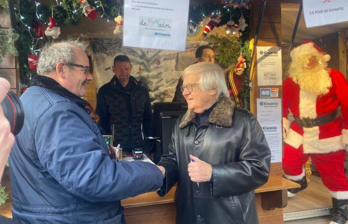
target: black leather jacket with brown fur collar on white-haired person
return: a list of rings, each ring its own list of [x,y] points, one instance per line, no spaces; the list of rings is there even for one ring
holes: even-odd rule
[[[260,124],[246,110],[222,97],[198,126],[187,111],[174,126],[166,168],[164,196],[177,182],[176,224],[258,224],[254,190],[268,180],[270,150]],[[192,182],[189,154],[212,165],[209,182]]]

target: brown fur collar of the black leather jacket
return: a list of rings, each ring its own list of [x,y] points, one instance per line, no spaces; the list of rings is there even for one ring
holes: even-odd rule
[[[227,97],[220,97],[213,111],[210,113],[208,121],[220,126],[230,127],[232,126],[232,115],[236,104]],[[183,128],[189,124],[196,117],[196,113],[193,111],[187,111],[180,122],[179,127]]]

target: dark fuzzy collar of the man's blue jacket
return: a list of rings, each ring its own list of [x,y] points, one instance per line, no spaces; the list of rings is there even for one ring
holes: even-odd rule
[[[73,94],[69,90],[65,89],[59,83],[57,83],[57,81],[55,81],[54,79],[52,79],[50,77],[36,75],[31,80],[31,86],[39,86],[39,87],[43,87],[43,88],[52,90],[53,92],[63,96],[64,98],[67,98],[68,100],[77,104],[79,107],[84,109],[88,114],[91,113],[91,111],[88,108],[86,108],[87,101],[76,96],[75,94]]]

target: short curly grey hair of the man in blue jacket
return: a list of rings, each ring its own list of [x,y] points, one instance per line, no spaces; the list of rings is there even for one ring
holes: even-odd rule
[[[87,44],[79,39],[68,39],[58,43],[47,43],[41,49],[37,65],[37,74],[44,75],[54,71],[58,62],[63,62],[64,64],[74,63],[75,54],[73,47],[86,50]]]

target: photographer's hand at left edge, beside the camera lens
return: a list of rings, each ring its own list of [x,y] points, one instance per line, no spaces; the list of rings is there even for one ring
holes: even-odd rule
[[[6,97],[9,87],[10,85],[7,80],[0,78],[0,103]],[[2,107],[0,105],[0,179],[13,143],[14,136],[11,133],[9,122],[4,116]]]

